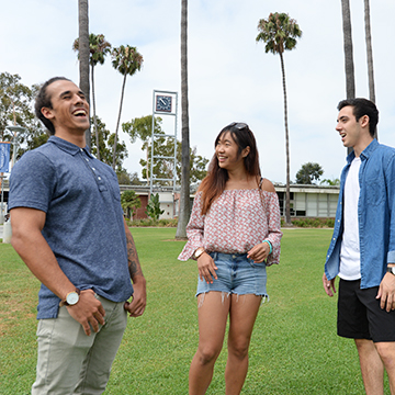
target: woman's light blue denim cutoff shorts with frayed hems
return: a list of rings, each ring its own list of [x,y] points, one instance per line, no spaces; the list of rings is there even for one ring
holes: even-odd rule
[[[268,297],[266,283],[266,263],[255,263],[253,259],[247,258],[247,253],[222,253],[210,252],[218,268],[217,280],[207,284],[198,275],[196,296],[210,291],[218,291],[227,294],[255,294]]]

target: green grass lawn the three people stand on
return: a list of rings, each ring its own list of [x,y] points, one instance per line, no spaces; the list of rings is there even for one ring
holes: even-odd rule
[[[174,228],[133,228],[147,278],[143,317],[129,318],[105,394],[185,395],[198,347],[196,268],[177,256]],[[336,335],[337,297],[321,285],[330,229],[285,229],[281,263],[268,268],[242,394],[363,394],[352,340]],[[0,245],[0,394],[27,394],[35,376],[38,281]],[[225,345],[226,346],[226,345]],[[207,394],[224,394],[226,347]],[[390,394],[385,383],[385,394]]]

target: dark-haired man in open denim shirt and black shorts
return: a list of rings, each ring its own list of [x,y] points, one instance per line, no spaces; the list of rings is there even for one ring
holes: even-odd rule
[[[339,275],[338,335],[354,339],[366,394],[395,394],[395,149],[374,138],[379,111],[366,99],[338,105],[347,157],[323,284]]]

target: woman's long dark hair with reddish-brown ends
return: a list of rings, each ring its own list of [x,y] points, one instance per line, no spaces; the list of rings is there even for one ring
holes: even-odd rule
[[[244,158],[244,165],[248,174],[260,176],[257,142],[248,125],[234,122],[225,126],[216,137],[214,147],[216,147],[219,138],[227,132],[230,133],[232,138],[238,146],[238,158],[245,148],[250,147],[250,151]],[[199,191],[202,192],[202,215],[207,213],[215,199],[224,192],[228,179],[229,176],[227,170],[219,167],[218,158],[216,157],[216,154],[214,154],[208,165],[207,176],[199,187]]]

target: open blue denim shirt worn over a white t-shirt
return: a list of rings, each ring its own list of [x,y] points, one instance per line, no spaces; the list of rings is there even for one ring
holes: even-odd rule
[[[354,157],[352,151],[341,172],[334,235],[325,263],[328,280],[339,273],[345,182]],[[387,263],[395,263],[395,149],[374,139],[361,154],[359,183],[361,289],[368,289],[379,286]]]

